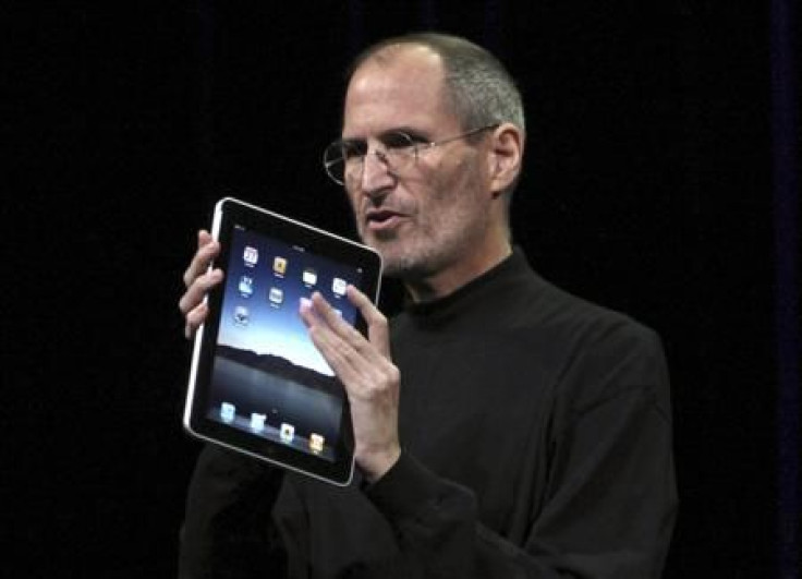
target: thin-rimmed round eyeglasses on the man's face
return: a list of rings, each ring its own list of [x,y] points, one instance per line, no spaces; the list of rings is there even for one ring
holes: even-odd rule
[[[487,124],[440,141],[424,141],[402,131],[391,131],[381,136],[381,148],[376,148],[373,153],[380,162],[385,164],[388,171],[398,174],[404,168],[417,162],[417,156],[422,152],[475,135],[482,131],[496,129],[499,123]],[[344,185],[345,182],[353,182],[362,178],[365,157],[369,152],[367,141],[364,138],[340,138],[326,147],[323,154],[323,166],[333,182]]]

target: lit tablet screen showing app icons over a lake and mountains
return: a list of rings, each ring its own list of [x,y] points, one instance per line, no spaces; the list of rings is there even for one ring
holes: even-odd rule
[[[242,227],[230,245],[207,418],[336,460],[343,393],[299,310],[319,291],[354,324],[361,272]]]

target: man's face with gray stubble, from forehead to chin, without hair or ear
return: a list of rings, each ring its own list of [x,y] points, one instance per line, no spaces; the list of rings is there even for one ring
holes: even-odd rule
[[[430,142],[474,128],[448,110],[438,56],[405,46],[382,57],[356,71],[345,97],[342,136],[369,148],[362,178],[347,190],[360,236],[379,251],[386,273],[415,282],[481,251],[490,220],[484,147],[460,138],[423,150],[398,174],[388,171],[373,153],[384,149],[387,133]]]

